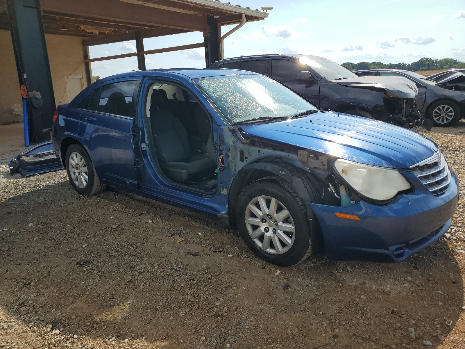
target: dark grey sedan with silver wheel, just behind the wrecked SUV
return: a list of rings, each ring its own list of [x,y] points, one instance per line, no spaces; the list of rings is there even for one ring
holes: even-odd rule
[[[358,76],[401,76],[414,82],[419,91],[418,109],[436,126],[452,126],[465,116],[464,91],[447,88],[423,75],[397,69],[358,70],[353,73]]]

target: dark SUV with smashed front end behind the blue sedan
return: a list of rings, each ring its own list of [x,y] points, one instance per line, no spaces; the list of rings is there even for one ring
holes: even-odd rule
[[[358,77],[332,60],[304,54],[240,56],[219,60],[212,68],[270,76],[320,108],[407,128],[432,127],[417,110],[417,87],[406,79]]]

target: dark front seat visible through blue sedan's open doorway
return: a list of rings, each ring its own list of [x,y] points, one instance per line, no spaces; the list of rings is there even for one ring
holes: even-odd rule
[[[157,156],[165,175],[172,181],[183,182],[189,175],[216,168],[209,154],[192,156],[186,129],[173,113],[165,109],[166,92],[154,90],[153,94],[150,121]]]

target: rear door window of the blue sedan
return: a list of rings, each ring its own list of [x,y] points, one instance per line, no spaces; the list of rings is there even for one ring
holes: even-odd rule
[[[135,94],[140,80],[115,82],[93,91],[89,109],[105,114],[128,116],[136,114]]]

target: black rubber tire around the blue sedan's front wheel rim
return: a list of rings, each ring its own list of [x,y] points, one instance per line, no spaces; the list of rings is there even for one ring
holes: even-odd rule
[[[265,251],[254,242],[254,239],[252,239],[251,234],[247,229],[247,206],[252,200],[259,196],[275,198],[284,205],[292,217],[292,222],[295,227],[293,235],[295,236],[292,246],[284,253],[274,254]],[[239,199],[237,201],[237,222],[242,239],[259,258],[280,266],[287,267],[300,263],[312,255],[313,246],[315,246],[313,238],[314,228],[311,228],[313,227],[313,223],[309,225],[307,218],[313,217],[307,217],[306,205],[302,198],[288,183],[274,177],[261,179],[249,184],[239,195]],[[272,218],[272,220],[274,220],[274,218]],[[314,220],[311,222],[314,222]],[[261,237],[259,239],[261,239]],[[277,248],[274,249],[277,251]]]

